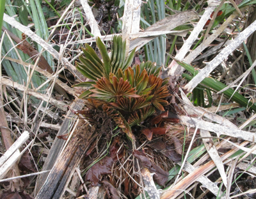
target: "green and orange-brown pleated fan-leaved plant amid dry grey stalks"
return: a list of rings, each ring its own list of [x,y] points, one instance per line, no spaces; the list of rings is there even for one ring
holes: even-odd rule
[[[161,68],[151,61],[132,68],[135,49],[125,58],[122,36],[114,36],[110,57],[100,38],[96,43],[102,61],[92,47],[85,44],[84,56],[80,56],[80,63],[77,63],[77,70],[88,78],[75,85],[88,87],[79,98],[100,104],[98,108],[134,139],[131,127],[143,123],[157,109],[164,111],[164,106],[168,105],[168,80],[159,77]]]

